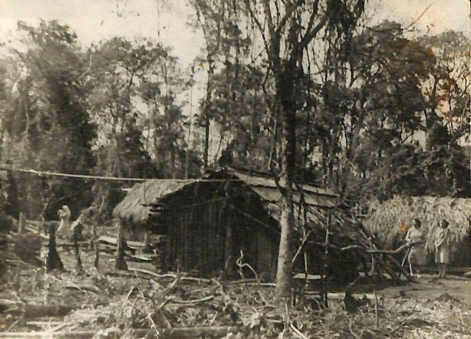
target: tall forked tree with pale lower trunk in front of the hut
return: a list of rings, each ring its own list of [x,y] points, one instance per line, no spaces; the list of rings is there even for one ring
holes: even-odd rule
[[[276,294],[291,292],[295,217],[293,188],[297,175],[297,114],[302,103],[300,78],[305,74],[307,50],[320,34],[330,41],[348,41],[364,10],[364,1],[245,0],[253,26],[263,40],[267,69],[274,79],[274,97],[282,124],[281,236],[276,275]]]

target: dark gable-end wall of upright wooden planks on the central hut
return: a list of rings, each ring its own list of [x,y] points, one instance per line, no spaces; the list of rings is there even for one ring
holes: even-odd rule
[[[235,262],[242,250],[242,263],[251,265],[258,275],[263,273],[264,277],[274,278],[279,238],[269,230],[273,220],[268,213],[254,208],[260,205],[259,201],[247,198],[234,202],[217,189],[206,189],[203,194],[187,193],[180,194],[184,198],[179,201],[168,201],[165,209],[171,247],[167,265],[215,276],[224,270],[230,256],[226,273],[238,275]],[[232,203],[268,227],[235,212],[230,208]],[[253,276],[246,268],[243,274]]]

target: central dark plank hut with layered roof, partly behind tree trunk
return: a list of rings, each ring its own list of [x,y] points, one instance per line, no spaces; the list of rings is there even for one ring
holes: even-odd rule
[[[294,187],[295,222],[302,237],[307,225],[309,273],[323,269],[323,244],[329,225],[329,242],[341,248],[368,246],[368,239],[339,206],[338,196],[325,187]],[[169,242],[167,267],[198,270],[203,274],[226,271],[235,273],[237,258],[257,273],[274,277],[280,236],[282,201],[277,183],[269,176],[258,176],[231,168],[216,170],[203,180],[184,186],[162,199],[159,230]],[[296,242],[297,247],[301,241]],[[242,251],[242,252],[241,252]],[[241,259],[242,260],[242,259]],[[330,249],[330,274],[339,279],[355,276],[362,254]],[[304,270],[303,255],[297,256],[295,271]],[[250,274],[250,272],[248,272]]]

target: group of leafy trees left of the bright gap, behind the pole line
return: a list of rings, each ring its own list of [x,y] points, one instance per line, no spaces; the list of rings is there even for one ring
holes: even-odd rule
[[[191,154],[184,138],[180,70],[152,41],[113,38],[79,46],[68,26],[19,23],[21,48],[2,60],[2,160],[14,168],[119,177],[178,177]],[[116,203],[122,184],[14,174],[19,208],[54,218]],[[113,193],[113,194],[111,194]],[[13,194],[13,192],[9,192]],[[113,206],[110,206],[113,207]],[[109,208],[106,208],[109,211]]]

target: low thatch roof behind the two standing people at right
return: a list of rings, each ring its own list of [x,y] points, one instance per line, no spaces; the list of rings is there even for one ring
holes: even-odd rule
[[[433,235],[438,222],[446,219],[449,222],[453,241],[461,241],[469,234],[471,229],[471,199],[415,196],[395,196],[393,199],[379,202],[373,201],[369,205],[364,224],[373,233],[387,241],[399,234],[401,222],[412,223],[418,218],[426,230],[429,251],[433,250]]]

